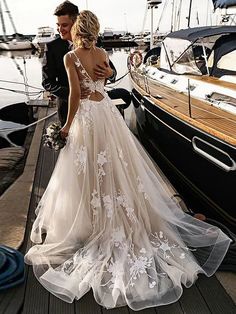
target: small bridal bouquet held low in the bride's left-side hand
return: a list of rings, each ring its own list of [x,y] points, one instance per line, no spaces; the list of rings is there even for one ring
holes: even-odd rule
[[[66,139],[60,134],[61,124],[53,122],[46,128],[46,133],[43,135],[44,146],[58,151],[66,145]]]

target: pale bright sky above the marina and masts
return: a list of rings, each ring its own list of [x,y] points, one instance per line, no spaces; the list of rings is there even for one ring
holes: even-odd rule
[[[56,19],[53,16],[55,7],[63,0],[6,0],[12,18],[16,25],[18,33],[36,34],[37,28],[40,26],[51,26],[55,29]],[[160,31],[169,31],[171,25],[171,7],[174,2],[176,8],[181,0],[163,0],[162,4],[153,11],[154,29],[158,26],[159,17],[165,7],[161,23]],[[188,14],[190,0],[182,0],[181,9],[181,27],[187,27],[186,16]],[[7,33],[12,34],[13,29],[6,15],[4,3],[2,4],[4,20],[6,23]],[[144,23],[146,0],[71,0],[78,5],[79,10],[89,9],[93,11],[99,18],[101,32],[104,28],[109,27],[114,30],[123,30],[131,33],[138,33],[142,30],[150,30],[151,27],[151,10],[148,10],[146,23]],[[211,0],[193,0],[193,18],[192,23],[197,23],[197,17],[200,23],[205,24],[207,21],[206,10],[212,12]],[[198,16],[197,13],[198,12]],[[209,19],[208,19],[209,20]],[[143,27],[144,24],[144,27]],[[194,25],[192,25],[194,26]],[[0,34],[2,29],[0,25]]]

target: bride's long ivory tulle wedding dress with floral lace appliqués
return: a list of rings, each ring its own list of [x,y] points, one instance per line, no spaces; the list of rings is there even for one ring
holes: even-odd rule
[[[36,209],[36,243],[25,261],[66,302],[91,288],[106,308],[133,310],[178,300],[199,273],[211,276],[230,239],[185,214],[104,91],[75,59],[82,100]],[[44,241],[42,235],[45,234]]]

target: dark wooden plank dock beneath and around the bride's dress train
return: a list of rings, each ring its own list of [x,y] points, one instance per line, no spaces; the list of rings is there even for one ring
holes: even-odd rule
[[[50,109],[48,109],[50,110]],[[54,118],[55,119],[55,118]],[[47,121],[46,123],[48,123]],[[42,144],[32,188],[25,239],[20,250],[25,253],[32,245],[29,233],[35,219],[35,207],[42,196],[54,169],[57,153]],[[26,265],[24,284],[0,292],[0,314],[131,314],[128,307],[107,310],[98,305],[90,291],[81,300],[65,303],[45,290],[34,277],[32,267]],[[184,289],[174,304],[138,311],[140,314],[233,314],[236,306],[215,276],[200,276],[189,289]]]

